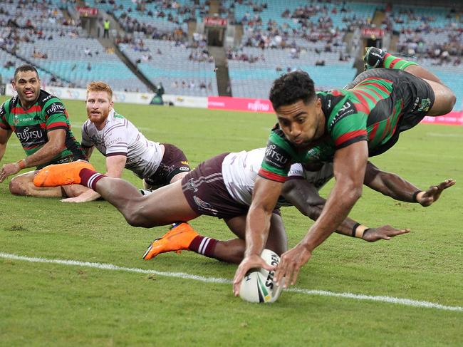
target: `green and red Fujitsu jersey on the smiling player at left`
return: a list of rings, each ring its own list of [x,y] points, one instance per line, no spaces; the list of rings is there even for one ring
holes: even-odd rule
[[[71,131],[66,108],[60,99],[45,90],[40,90],[36,103],[27,110],[22,108],[18,95],[6,100],[0,107],[0,128],[16,133],[26,155],[32,155],[48,142],[49,131],[66,130],[65,149],[41,167],[70,157],[73,160],[86,159]]]

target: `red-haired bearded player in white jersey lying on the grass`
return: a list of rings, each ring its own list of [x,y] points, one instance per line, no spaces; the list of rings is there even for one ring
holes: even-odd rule
[[[106,157],[106,175],[121,177],[124,167],[143,179],[146,189],[168,185],[190,171],[187,157],[180,148],[169,143],[155,143],[117,113],[113,106],[113,90],[104,82],[87,86],[88,120],[82,127],[82,147],[90,158],[96,147]],[[88,190],[63,202],[88,202],[100,195]]]

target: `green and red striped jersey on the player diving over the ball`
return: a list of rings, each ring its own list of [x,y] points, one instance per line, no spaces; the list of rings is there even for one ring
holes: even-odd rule
[[[384,145],[394,135],[404,112],[403,98],[387,78],[365,78],[349,90],[317,92],[326,118],[328,139],[301,150],[292,145],[276,125],[267,143],[259,175],[284,182],[294,162],[329,162],[335,150],[358,141],[368,141],[371,151]]]

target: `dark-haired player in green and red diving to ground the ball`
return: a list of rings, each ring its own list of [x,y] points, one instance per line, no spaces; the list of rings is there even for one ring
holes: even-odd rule
[[[254,186],[246,219],[245,257],[234,279],[236,295],[249,269],[273,269],[259,254],[292,162],[332,160],[336,182],[306,237],[281,257],[276,281],[286,276],[285,286],[296,282],[313,249],[330,236],[362,195],[368,157],[388,150],[401,131],[417,125],[425,115],[444,115],[452,110],[452,90],[416,63],[378,48],[368,49],[365,63],[370,70],[342,90],[316,93],[313,81],[303,71],[286,73],[274,82],[270,100],[279,124],[272,130]],[[446,180],[433,191],[439,195],[453,184],[453,180]],[[423,192],[410,195],[410,201],[420,194]]]

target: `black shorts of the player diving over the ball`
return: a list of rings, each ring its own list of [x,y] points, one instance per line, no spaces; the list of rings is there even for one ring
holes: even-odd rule
[[[354,81],[345,86],[345,89],[350,89],[363,81],[365,78],[385,78],[392,81],[393,90],[392,98],[402,100],[404,107],[403,113],[395,128],[395,133],[387,143],[380,145],[370,150],[369,156],[380,155],[387,151],[397,143],[399,135],[402,131],[409,130],[421,122],[425,115],[431,110],[434,105],[435,95],[429,83],[422,78],[413,76],[406,71],[392,68],[373,68],[371,70],[360,73]]]

